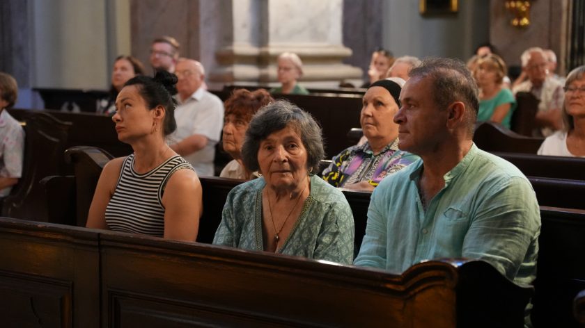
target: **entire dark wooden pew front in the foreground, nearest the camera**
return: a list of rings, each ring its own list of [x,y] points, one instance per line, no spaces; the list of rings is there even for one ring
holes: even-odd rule
[[[9,327],[513,327],[532,293],[483,261],[392,274],[6,218],[0,248]]]

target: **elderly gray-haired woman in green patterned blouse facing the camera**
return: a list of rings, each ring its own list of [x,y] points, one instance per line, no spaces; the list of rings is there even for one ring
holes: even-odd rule
[[[350,264],[354,222],[343,193],[317,172],[324,156],[313,117],[275,101],[252,118],[242,160],[262,177],[231,190],[213,243]]]

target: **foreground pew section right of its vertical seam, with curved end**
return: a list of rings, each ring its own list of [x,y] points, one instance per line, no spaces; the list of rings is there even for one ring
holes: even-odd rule
[[[469,280],[464,281],[459,280],[458,271],[465,261],[459,263],[461,267],[452,266],[456,261],[430,261],[393,275],[116,233],[102,234],[100,245],[102,293],[109,295],[108,300],[116,300],[113,306],[104,298],[102,308],[110,312],[102,318],[108,318],[112,327],[148,325],[153,320],[161,327],[188,327],[188,322],[207,321],[217,327],[387,327],[388,322],[393,327],[458,327],[456,322],[464,322],[463,316],[469,316],[467,320],[473,320],[474,327],[491,327],[472,319],[483,310],[467,306],[469,311],[459,311],[457,306],[464,304],[458,304],[452,288],[506,285],[506,295],[515,299],[506,304],[514,304],[514,318],[494,317],[490,323],[522,322],[531,293],[499,274],[499,281],[492,281],[495,271],[483,262],[474,262],[478,267],[469,268]],[[478,272],[483,272],[481,279],[476,279]],[[467,301],[471,300],[464,303]],[[503,303],[492,303],[500,305]],[[143,306],[159,311],[137,311]],[[185,318],[185,322],[176,318]],[[125,319],[128,325],[123,325]]]

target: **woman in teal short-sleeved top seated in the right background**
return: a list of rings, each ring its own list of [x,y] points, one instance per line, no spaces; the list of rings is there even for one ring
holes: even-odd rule
[[[510,129],[516,100],[510,89],[502,85],[506,63],[499,56],[488,54],[478,59],[474,76],[479,87],[478,121],[492,121]]]

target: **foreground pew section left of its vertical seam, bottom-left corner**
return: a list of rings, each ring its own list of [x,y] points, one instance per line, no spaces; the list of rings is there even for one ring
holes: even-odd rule
[[[0,249],[1,327],[99,327],[96,231],[0,218]]]

